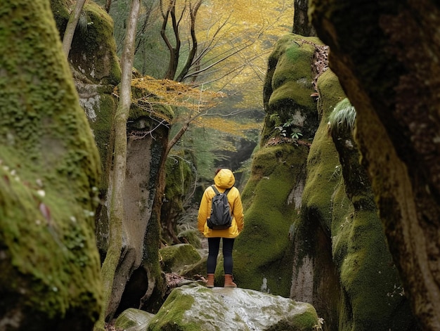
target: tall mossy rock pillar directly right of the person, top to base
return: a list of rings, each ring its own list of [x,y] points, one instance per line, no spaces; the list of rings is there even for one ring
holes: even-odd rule
[[[269,56],[264,83],[261,148],[242,191],[245,228],[234,246],[240,287],[288,297],[292,282],[291,226],[301,206],[309,141],[318,126],[313,58],[321,41],[287,34]],[[297,136],[294,136],[297,134]],[[216,277],[223,272],[218,268]]]

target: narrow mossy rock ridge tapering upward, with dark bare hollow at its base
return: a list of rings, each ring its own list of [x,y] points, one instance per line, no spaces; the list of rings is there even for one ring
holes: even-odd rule
[[[299,217],[292,226],[295,261],[290,295],[313,304],[325,320],[325,330],[337,330],[339,276],[332,260],[330,228],[332,195],[342,170],[327,123],[329,112],[344,98],[344,93],[330,70],[321,74],[317,87],[321,122],[307,159]]]

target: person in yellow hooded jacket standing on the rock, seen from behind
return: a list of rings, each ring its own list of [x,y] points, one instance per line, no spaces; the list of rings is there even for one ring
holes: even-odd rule
[[[240,192],[233,187],[235,177],[230,169],[217,169],[214,176],[214,185],[220,193],[231,188],[227,195],[228,202],[231,207],[232,223],[229,228],[224,230],[212,230],[207,225],[207,219],[211,214],[212,197],[215,193],[209,186],[203,193],[198,212],[198,230],[208,240],[208,259],[207,259],[207,287],[214,287],[214,273],[217,264],[217,256],[219,255],[220,240],[223,241],[223,258],[224,258],[224,287],[237,287],[233,282],[233,258],[232,249],[235,238],[244,228],[243,207],[240,198]]]

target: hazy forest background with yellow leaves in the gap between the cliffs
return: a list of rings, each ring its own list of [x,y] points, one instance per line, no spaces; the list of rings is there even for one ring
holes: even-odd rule
[[[108,3],[97,2],[102,6]],[[124,46],[130,2],[112,1],[110,6],[118,55]],[[177,21],[175,29],[171,13],[166,15],[171,6]],[[195,12],[197,51],[186,68],[195,48],[191,11]],[[184,157],[196,169],[198,181],[212,181],[213,170],[220,166],[240,173],[243,164],[233,162],[233,156],[240,146],[252,150],[257,145],[264,117],[262,93],[268,54],[281,35],[292,31],[292,18],[293,1],[258,0],[252,6],[246,1],[231,0],[141,1],[134,68],[142,77],[153,78],[147,84],[156,92],[164,84],[175,89],[173,82],[195,88],[190,91],[195,96],[188,93],[186,99],[162,96],[174,106],[174,118],[167,118],[170,139],[178,134],[186,119],[191,119],[191,129],[173,146],[169,157]],[[165,43],[162,31],[172,49]],[[181,74],[184,70],[188,72]],[[249,159],[243,169],[248,162]],[[240,183],[240,175],[237,180],[238,185],[244,184]]]

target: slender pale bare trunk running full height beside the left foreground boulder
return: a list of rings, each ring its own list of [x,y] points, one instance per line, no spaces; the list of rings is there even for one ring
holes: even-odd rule
[[[101,269],[104,288],[104,309],[95,330],[104,330],[104,321],[112,295],[113,279],[122,249],[122,222],[124,220],[124,182],[127,168],[127,119],[131,105],[131,73],[134,60],[134,41],[140,1],[131,1],[127,36],[122,53],[121,91],[115,115],[115,159],[110,200],[110,246]]]

